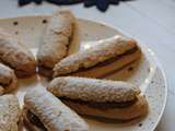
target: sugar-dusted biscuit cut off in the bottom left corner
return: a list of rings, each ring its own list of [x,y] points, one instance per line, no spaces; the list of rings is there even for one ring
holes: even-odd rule
[[[22,112],[14,95],[0,96],[0,131],[20,131]]]

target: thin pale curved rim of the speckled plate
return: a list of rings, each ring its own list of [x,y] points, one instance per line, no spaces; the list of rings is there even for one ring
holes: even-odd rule
[[[24,17],[50,17],[51,15],[50,14],[28,14],[28,15],[19,15],[19,16],[12,16],[12,17],[0,17],[0,21],[5,21],[5,20],[13,20],[13,19],[24,19]],[[106,27],[109,27],[112,29],[115,29],[117,32],[119,32],[120,34],[122,34],[124,36],[132,36],[130,35],[129,33],[126,33],[124,32],[120,27],[115,27],[114,25],[109,25],[105,22],[100,22],[100,21],[94,21],[94,20],[89,20],[89,19],[82,19],[82,17],[78,17],[78,20],[80,21],[86,21],[86,22],[93,22],[95,24],[101,24],[101,25],[104,25]],[[150,49],[153,53],[155,53],[148,45],[145,45],[144,43],[142,43],[139,38],[137,38],[137,41],[139,41],[139,44],[141,44],[141,46],[145,46],[148,49]],[[165,85],[165,96],[164,96],[164,103],[163,103],[163,107],[161,109],[161,114],[159,115],[158,117],[158,120],[155,122],[155,124],[153,126],[152,128],[152,131],[154,131],[156,129],[156,127],[159,126],[162,117],[163,117],[163,114],[165,111],[165,108],[166,108],[166,104],[167,104],[167,95],[168,95],[168,82],[167,82],[167,78],[166,78],[166,73],[164,71],[164,68],[162,67],[161,62],[159,61],[158,57],[156,57],[156,53],[154,56],[151,56],[153,58],[153,61],[156,63],[156,70],[160,70],[161,73],[162,73],[162,76],[163,76],[163,80],[164,80],[164,85]]]

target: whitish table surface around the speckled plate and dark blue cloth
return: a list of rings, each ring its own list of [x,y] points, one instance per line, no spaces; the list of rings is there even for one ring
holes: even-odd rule
[[[30,4],[18,7],[18,0],[0,0],[0,17],[50,13],[56,5]],[[79,17],[108,23],[147,44],[158,56],[168,82],[168,97],[164,116],[156,131],[175,128],[175,0],[136,0],[110,7],[106,13],[82,4],[70,8]]]

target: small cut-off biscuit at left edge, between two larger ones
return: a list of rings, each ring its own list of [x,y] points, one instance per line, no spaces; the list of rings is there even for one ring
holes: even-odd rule
[[[11,92],[18,85],[18,79],[14,71],[0,63],[0,94]]]

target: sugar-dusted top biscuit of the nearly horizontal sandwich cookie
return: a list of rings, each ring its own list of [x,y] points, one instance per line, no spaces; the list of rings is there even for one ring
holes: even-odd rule
[[[140,94],[139,87],[121,81],[96,80],[77,76],[54,79],[47,90],[54,95],[84,102],[130,102]]]

